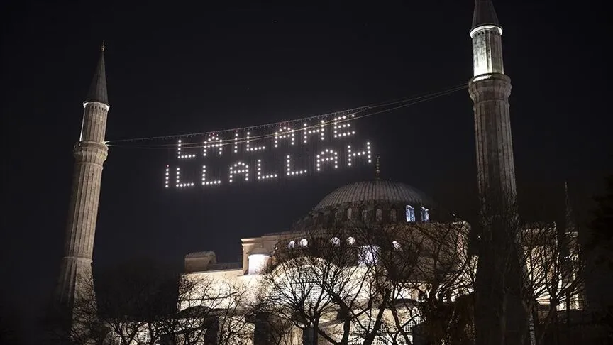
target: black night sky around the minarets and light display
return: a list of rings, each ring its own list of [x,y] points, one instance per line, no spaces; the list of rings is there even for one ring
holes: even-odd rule
[[[470,0],[222,2],[228,5],[3,3],[0,277],[6,300],[28,296],[25,308],[53,290],[72,145],[103,39],[109,140],[297,119],[446,89],[472,75]],[[513,84],[520,198],[540,207],[568,180],[581,207],[612,171],[609,18],[590,1],[500,0],[495,6]],[[477,196],[466,90],[377,116],[360,133],[377,145],[385,177],[470,217]],[[94,268],[143,257],[180,268],[186,253],[206,249],[233,261],[241,237],[285,231],[326,193],[358,179],[339,172],[179,193],[162,187],[166,163],[165,151],[109,150]]]

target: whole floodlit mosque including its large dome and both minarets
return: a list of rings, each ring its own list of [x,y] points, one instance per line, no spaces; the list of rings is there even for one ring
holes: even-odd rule
[[[504,75],[502,26],[498,22],[490,0],[475,1],[470,38],[473,42],[474,74],[469,82],[469,93],[473,99],[475,112],[477,182],[480,197],[487,204],[495,204],[500,202],[500,195],[515,195],[515,173],[508,102],[511,82],[510,78]],[[92,276],[92,253],[101,173],[108,151],[104,134],[110,105],[106,92],[104,47],[83,106],[82,132],[79,141],[74,146],[76,163],[70,217],[65,238],[65,256],[62,260],[60,283],[57,287],[60,303],[69,310],[74,300],[83,292],[85,285],[83,280]],[[363,236],[355,234],[355,229],[357,229],[355,224],[368,224],[369,229],[380,230],[381,234],[385,235],[382,235],[385,241],[365,243]],[[328,231],[333,229],[334,233],[324,232],[326,229]],[[353,264],[344,265],[343,269],[352,271],[351,281],[360,280],[361,278],[355,277],[370,274],[368,269],[375,266],[372,263],[388,257],[387,253],[397,252],[403,255],[407,253],[404,251],[409,247],[407,241],[414,240],[414,237],[407,237],[406,234],[416,234],[416,231],[421,231],[420,233],[426,234],[430,239],[436,239],[440,238],[437,236],[442,233],[443,229],[446,234],[453,235],[451,236],[453,241],[448,241],[450,238],[445,237],[446,241],[440,247],[441,251],[436,254],[433,254],[433,251],[424,251],[429,254],[423,256],[419,254],[416,258],[416,265],[431,267],[434,262],[445,263],[441,256],[449,257],[449,253],[453,253],[453,258],[464,258],[461,261],[464,264],[473,265],[473,259],[476,256],[468,253],[468,242],[465,241],[466,237],[462,236],[470,231],[469,224],[444,217],[441,212],[438,212],[436,203],[415,187],[380,178],[360,181],[339,187],[323,197],[321,202],[316,204],[302,219],[295,221],[289,231],[242,239],[243,258],[241,262],[218,263],[212,251],[189,253],[185,257],[184,278],[215,281],[219,289],[221,285],[226,284],[234,287],[242,286],[254,294],[270,291],[266,289],[270,289],[275,281],[284,281],[283,279],[291,278],[292,272],[302,271],[304,273],[310,267],[309,264],[304,263],[294,266],[293,270],[284,270],[283,263],[288,261],[283,261],[282,258],[292,257],[292,253],[301,251],[308,253],[310,248],[331,248],[330,253],[344,253],[345,257],[353,260]],[[432,248],[430,242],[423,243],[425,243],[424,247]],[[336,257],[337,254],[333,255]],[[394,260],[402,260],[400,256],[396,257],[397,259]],[[301,258],[300,260],[305,260],[306,256],[301,256]],[[456,272],[458,262],[460,261],[446,263],[444,267],[448,271],[445,274]],[[470,266],[465,273],[473,274],[473,268]],[[272,275],[276,277],[275,281],[270,280]],[[421,298],[420,284],[427,285],[427,276],[412,275],[411,277],[419,280],[419,283],[412,285],[414,286],[412,290],[399,291],[398,300],[419,300]],[[370,284],[372,285],[372,282]],[[358,289],[356,296],[361,297],[356,297],[358,302],[350,305],[350,308],[368,305],[368,298],[360,295],[360,291],[371,285],[367,284]],[[450,291],[448,298],[457,300],[462,295],[470,293],[472,288],[458,286]],[[302,300],[303,305],[309,300],[305,298]],[[328,296],[328,298],[332,297]],[[291,300],[289,296],[282,297],[277,307],[289,300]],[[546,296],[539,300],[539,303],[541,302],[543,305],[549,303]],[[180,310],[189,310],[189,303],[187,305],[180,303],[179,307]],[[578,298],[573,298],[572,305],[560,306],[560,308],[563,307],[577,309],[581,305]],[[377,306],[370,306],[370,309],[363,314],[376,319],[377,308]],[[278,342],[278,344],[329,344],[331,339],[325,337],[321,339],[321,334],[316,334],[314,327],[329,329],[331,332],[328,334],[332,340],[338,340],[343,336],[343,327],[346,326],[339,321],[343,319],[339,317],[343,312],[346,313],[347,310],[342,310],[342,308],[321,310],[319,324],[304,320],[303,315],[302,327],[295,327],[295,324],[287,327],[283,336],[285,343]],[[381,315],[382,319],[394,317],[389,312],[382,312]],[[243,315],[242,317],[247,318],[248,316]],[[419,332],[414,331],[419,329],[421,320],[412,315],[410,307],[406,308],[402,317],[405,320],[400,320],[396,324],[407,325],[407,332],[405,332],[407,337],[404,340],[397,339],[394,344],[419,344],[419,339],[416,337]],[[407,317],[412,318],[410,322],[406,322]],[[219,324],[219,319],[217,322]],[[272,344],[269,338],[258,337],[258,334],[263,332],[262,327],[265,326],[257,319],[250,320],[249,323],[253,324],[250,332],[253,332],[254,335],[245,344]],[[350,324],[348,327],[354,326]],[[362,344],[363,339],[359,335],[351,336],[353,338],[345,344]],[[372,344],[390,343],[377,336]]]

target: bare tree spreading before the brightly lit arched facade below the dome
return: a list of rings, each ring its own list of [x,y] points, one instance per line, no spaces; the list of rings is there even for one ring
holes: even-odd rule
[[[371,266],[358,264],[357,241],[346,229],[315,229],[278,246],[263,275],[267,311],[314,344],[320,337],[331,344],[355,341],[353,324],[376,303],[369,298]]]

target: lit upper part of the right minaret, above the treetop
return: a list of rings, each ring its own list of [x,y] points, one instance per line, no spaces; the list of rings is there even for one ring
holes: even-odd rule
[[[473,78],[468,92],[475,111],[479,195],[482,205],[502,207],[501,211],[511,206],[507,200],[514,203],[515,168],[509,119],[511,80],[504,75],[502,27],[492,1],[475,1],[470,38]]]

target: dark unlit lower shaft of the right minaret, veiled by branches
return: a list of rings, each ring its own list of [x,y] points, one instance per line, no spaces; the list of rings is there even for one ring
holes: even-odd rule
[[[521,261],[521,222],[514,190],[481,191],[477,224],[475,341],[477,345],[524,344],[529,333]]]

